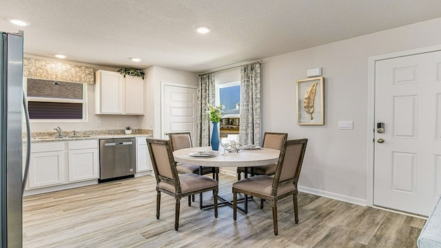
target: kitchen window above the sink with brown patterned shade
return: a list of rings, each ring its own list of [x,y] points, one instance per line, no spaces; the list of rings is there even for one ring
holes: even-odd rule
[[[29,116],[33,120],[85,120],[85,83],[26,79]]]

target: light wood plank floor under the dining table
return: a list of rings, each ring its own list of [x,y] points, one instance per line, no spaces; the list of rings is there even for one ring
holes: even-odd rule
[[[220,195],[232,198],[234,176],[220,174]],[[153,176],[102,183],[23,198],[23,247],[416,247],[425,220],[300,192],[299,223],[292,198],[278,203],[279,234],[271,206],[199,209],[181,201],[174,231],[174,198],[161,194],[156,220]],[[212,203],[210,192],[204,202]]]

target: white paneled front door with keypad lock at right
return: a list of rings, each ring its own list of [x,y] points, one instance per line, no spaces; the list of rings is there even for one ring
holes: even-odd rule
[[[441,194],[441,52],[376,61],[373,204],[428,216]]]

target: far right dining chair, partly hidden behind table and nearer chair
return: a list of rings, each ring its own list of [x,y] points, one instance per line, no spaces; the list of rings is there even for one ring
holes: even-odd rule
[[[262,147],[280,150],[282,149],[283,142],[287,140],[287,137],[287,133],[265,132]],[[254,175],[272,176],[276,174],[276,167],[276,164],[256,166],[253,168]],[[243,167],[238,167],[237,180],[240,180],[240,174],[242,172],[245,172],[245,169]]]

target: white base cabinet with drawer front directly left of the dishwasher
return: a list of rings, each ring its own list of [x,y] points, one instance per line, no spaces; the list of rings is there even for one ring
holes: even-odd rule
[[[68,149],[70,183],[98,178],[98,141],[70,141]]]

